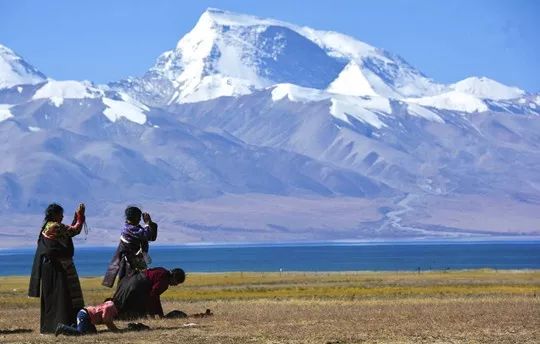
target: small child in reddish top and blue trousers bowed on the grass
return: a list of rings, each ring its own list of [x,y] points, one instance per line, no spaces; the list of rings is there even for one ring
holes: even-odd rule
[[[118,328],[113,319],[118,315],[118,309],[110,299],[97,306],[88,306],[77,313],[77,327],[58,324],[54,334],[65,334],[67,336],[78,336],[83,334],[97,333],[95,325],[106,325],[111,331],[117,331]]]

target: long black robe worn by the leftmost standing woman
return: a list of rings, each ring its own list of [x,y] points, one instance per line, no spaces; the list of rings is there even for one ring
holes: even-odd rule
[[[41,297],[41,333],[54,333],[58,323],[75,323],[81,303],[84,303],[78,279],[76,283],[70,281],[76,278],[74,267],[68,272],[62,265],[62,260],[73,259],[73,252],[71,238],[63,242],[47,239],[41,234],[38,238],[28,296]],[[76,305],[73,300],[78,300]]]

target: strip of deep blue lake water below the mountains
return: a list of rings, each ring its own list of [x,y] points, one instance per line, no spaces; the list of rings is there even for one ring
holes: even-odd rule
[[[79,247],[81,276],[105,273],[114,247]],[[151,246],[152,266],[186,272],[540,269],[540,242]],[[34,249],[0,250],[0,275],[29,275]]]

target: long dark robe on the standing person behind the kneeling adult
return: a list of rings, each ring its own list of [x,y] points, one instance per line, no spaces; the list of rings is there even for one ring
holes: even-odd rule
[[[149,223],[152,236],[149,241],[155,241],[157,239],[158,225],[155,222]],[[141,247],[142,246],[142,247]],[[139,249],[148,252],[148,242],[135,242],[135,243],[125,243],[120,241],[116,252],[114,253],[109,265],[107,266],[107,271],[103,277],[101,284],[105,287],[112,288],[116,276],[118,280],[122,280],[125,276],[130,276],[136,273],[137,271],[133,269],[130,262],[135,259],[135,253]]]

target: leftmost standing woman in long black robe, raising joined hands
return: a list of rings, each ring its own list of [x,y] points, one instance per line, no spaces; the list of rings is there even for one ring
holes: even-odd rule
[[[84,307],[71,239],[81,232],[84,213],[84,204],[80,204],[69,226],[62,223],[60,205],[53,203],[45,211],[28,288],[28,296],[41,297],[41,333],[54,333],[58,323],[75,323],[77,312]]]

